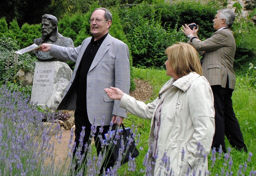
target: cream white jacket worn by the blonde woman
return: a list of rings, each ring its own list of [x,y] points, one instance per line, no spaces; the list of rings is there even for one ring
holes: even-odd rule
[[[152,157],[154,115],[162,102],[157,140],[158,157],[154,160]],[[189,167],[191,169],[189,175],[192,175],[192,172],[198,175],[200,171],[204,175],[208,170],[207,155],[211,149],[215,129],[214,99],[212,89],[204,76],[192,72],[176,81],[170,79],[160,90],[157,99],[147,105],[124,94],[120,107],[138,117],[151,119],[146,170],[152,168],[152,175],[173,172],[175,176],[184,176]],[[204,148],[201,154],[198,150],[198,142]],[[170,157],[169,163],[163,162],[164,156]],[[184,156],[183,160],[182,156]],[[152,165],[152,161],[156,164]],[[168,171],[168,167],[172,168],[172,171]]]

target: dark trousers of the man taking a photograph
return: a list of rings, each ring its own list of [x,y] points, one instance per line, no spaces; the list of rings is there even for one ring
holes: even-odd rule
[[[231,97],[234,90],[223,88],[220,85],[212,85],[211,87],[214,95],[215,109],[215,134],[212,148],[215,147],[218,151],[221,145],[223,152],[226,152],[224,142],[226,135],[232,147],[247,152],[244,138],[233,110]]]

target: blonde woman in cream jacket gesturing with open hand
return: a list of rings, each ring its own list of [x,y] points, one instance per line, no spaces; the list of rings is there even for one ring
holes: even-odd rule
[[[194,47],[178,42],[165,53],[166,75],[172,78],[152,103],[137,101],[115,87],[104,90],[111,99],[120,100],[120,107],[151,120],[146,172],[204,175],[214,136],[212,89],[202,76]]]

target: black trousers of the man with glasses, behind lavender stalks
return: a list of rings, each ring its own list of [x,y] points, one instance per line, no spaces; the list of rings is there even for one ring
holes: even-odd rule
[[[84,144],[91,144],[91,140],[90,140],[90,134],[91,134],[91,127],[92,124],[90,123],[89,119],[88,119],[88,115],[87,112],[83,111],[75,111],[75,142],[76,142],[76,146],[75,146],[75,150],[73,152],[73,158],[76,154],[76,150],[78,148],[78,145],[80,144],[80,134],[82,132],[82,127],[85,127],[85,135],[84,135],[84,140],[83,140],[83,144],[82,144],[82,150],[81,150],[81,155],[85,153],[85,156],[87,154],[87,152],[84,152]],[[109,131],[110,125],[106,125],[103,127],[103,132],[101,133],[102,138],[104,139],[104,134],[107,133]],[[102,151],[102,147],[101,147],[101,142],[100,142],[100,137],[98,137],[98,134],[100,134],[100,126],[96,127],[96,133],[94,136],[94,141],[95,141],[95,146],[96,146],[96,150],[97,150],[97,154],[100,154],[100,151]],[[107,156],[106,158],[108,158],[109,156]],[[84,160],[84,162],[86,162],[86,160]],[[102,164],[102,168],[100,169],[100,173],[102,174],[103,172],[103,168],[105,168],[105,170],[107,170],[108,168],[110,168],[111,166],[113,166],[113,164],[110,164],[107,162],[107,160],[104,160],[103,164]],[[78,166],[76,165],[76,169],[78,168]]]

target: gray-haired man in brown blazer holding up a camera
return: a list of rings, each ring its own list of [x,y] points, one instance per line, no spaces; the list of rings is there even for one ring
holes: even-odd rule
[[[233,71],[236,43],[229,28],[235,17],[232,9],[219,10],[213,20],[216,32],[204,41],[198,38],[198,28],[191,30],[186,24],[182,26],[182,32],[189,38],[188,43],[203,56],[203,75],[209,81],[214,95],[215,134],[212,148],[218,150],[221,145],[223,152],[226,152],[225,135],[233,147],[247,152],[231,99],[236,81]]]

